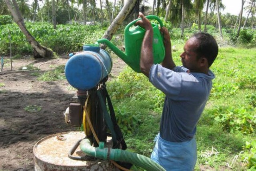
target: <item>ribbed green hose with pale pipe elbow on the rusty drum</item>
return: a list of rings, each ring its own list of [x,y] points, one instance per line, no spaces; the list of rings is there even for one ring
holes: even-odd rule
[[[147,171],[165,171],[162,166],[144,155],[121,149],[104,148],[104,142],[100,142],[99,147],[92,147],[89,139],[83,139],[80,142],[80,149],[96,158],[132,163]]]

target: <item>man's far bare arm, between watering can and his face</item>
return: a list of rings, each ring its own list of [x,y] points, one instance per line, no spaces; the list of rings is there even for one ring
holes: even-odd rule
[[[162,62],[162,66],[164,68],[168,68],[169,70],[173,70],[176,65],[172,60],[172,44],[170,40],[170,34],[167,28],[165,27],[161,28],[161,32],[164,35],[164,48],[165,48],[165,56]]]

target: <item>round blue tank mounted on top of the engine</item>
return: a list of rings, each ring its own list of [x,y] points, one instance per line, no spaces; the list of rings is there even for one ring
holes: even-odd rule
[[[78,90],[88,90],[100,83],[112,69],[110,55],[98,46],[84,46],[65,66],[68,83]]]

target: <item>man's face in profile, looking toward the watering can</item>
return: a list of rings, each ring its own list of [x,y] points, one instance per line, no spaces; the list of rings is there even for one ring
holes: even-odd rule
[[[194,52],[196,47],[198,47],[198,40],[190,38],[184,46],[184,52],[180,54],[183,66],[191,72],[197,72],[199,68],[199,60],[196,58],[198,54]]]

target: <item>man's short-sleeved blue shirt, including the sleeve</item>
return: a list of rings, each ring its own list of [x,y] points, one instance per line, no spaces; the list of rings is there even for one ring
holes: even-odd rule
[[[214,74],[188,73],[184,67],[174,71],[152,65],[149,80],[166,95],[160,123],[160,136],[171,142],[188,141],[196,133],[196,124],[212,88]]]

